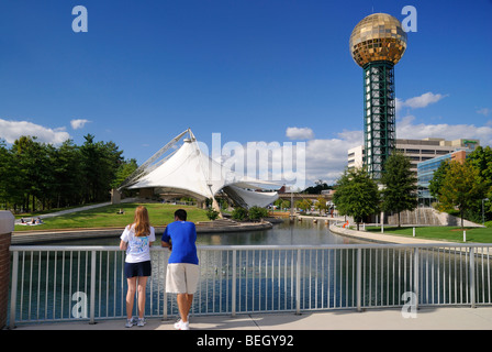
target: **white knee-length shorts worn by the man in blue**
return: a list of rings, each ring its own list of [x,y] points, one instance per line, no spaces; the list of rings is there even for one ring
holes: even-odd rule
[[[197,292],[199,266],[188,263],[171,263],[167,265],[166,293],[190,294]]]

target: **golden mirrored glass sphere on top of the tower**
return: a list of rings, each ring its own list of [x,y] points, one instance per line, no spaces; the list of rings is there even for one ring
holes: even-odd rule
[[[357,23],[350,35],[350,54],[360,67],[371,62],[396,64],[406,48],[406,33],[399,20],[374,13]]]

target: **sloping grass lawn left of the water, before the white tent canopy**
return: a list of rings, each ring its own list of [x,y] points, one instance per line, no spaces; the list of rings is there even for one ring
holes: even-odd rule
[[[135,208],[141,204],[121,204],[96,208],[91,210],[67,213],[58,217],[43,219],[44,224],[15,226],[15,231],[33,231],[33,230],[54,230],[54,229],[75,229],[75,228],[124,228],[133,222]],[[192,206],[172,206],[163,204],[143,205],[148,210],[150,224],[160,227],[175,220],[175,211],[185,209],[188,212],[188,221],[208,221],[205,210]],[[120,209],[123,215],[116,213]],[[36,215],[32,215],[36,217]],[[16,218],[20,218],[16,217]],[[23,217],[31,219],[30,217]]]

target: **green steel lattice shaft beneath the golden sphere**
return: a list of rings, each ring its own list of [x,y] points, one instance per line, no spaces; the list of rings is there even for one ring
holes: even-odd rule
[[[394,64],[371,62],[364,66],[365,166],[380,179],[395,143]]]

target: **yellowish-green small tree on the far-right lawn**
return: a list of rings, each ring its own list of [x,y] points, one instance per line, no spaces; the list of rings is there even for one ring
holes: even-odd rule
[[[439,208],[441,210],[458,208],[463,228],[465,211],[484,198],[487,190],[487,184],[482,182],[478,167],[452,161],[449,163],[439,191]]]

